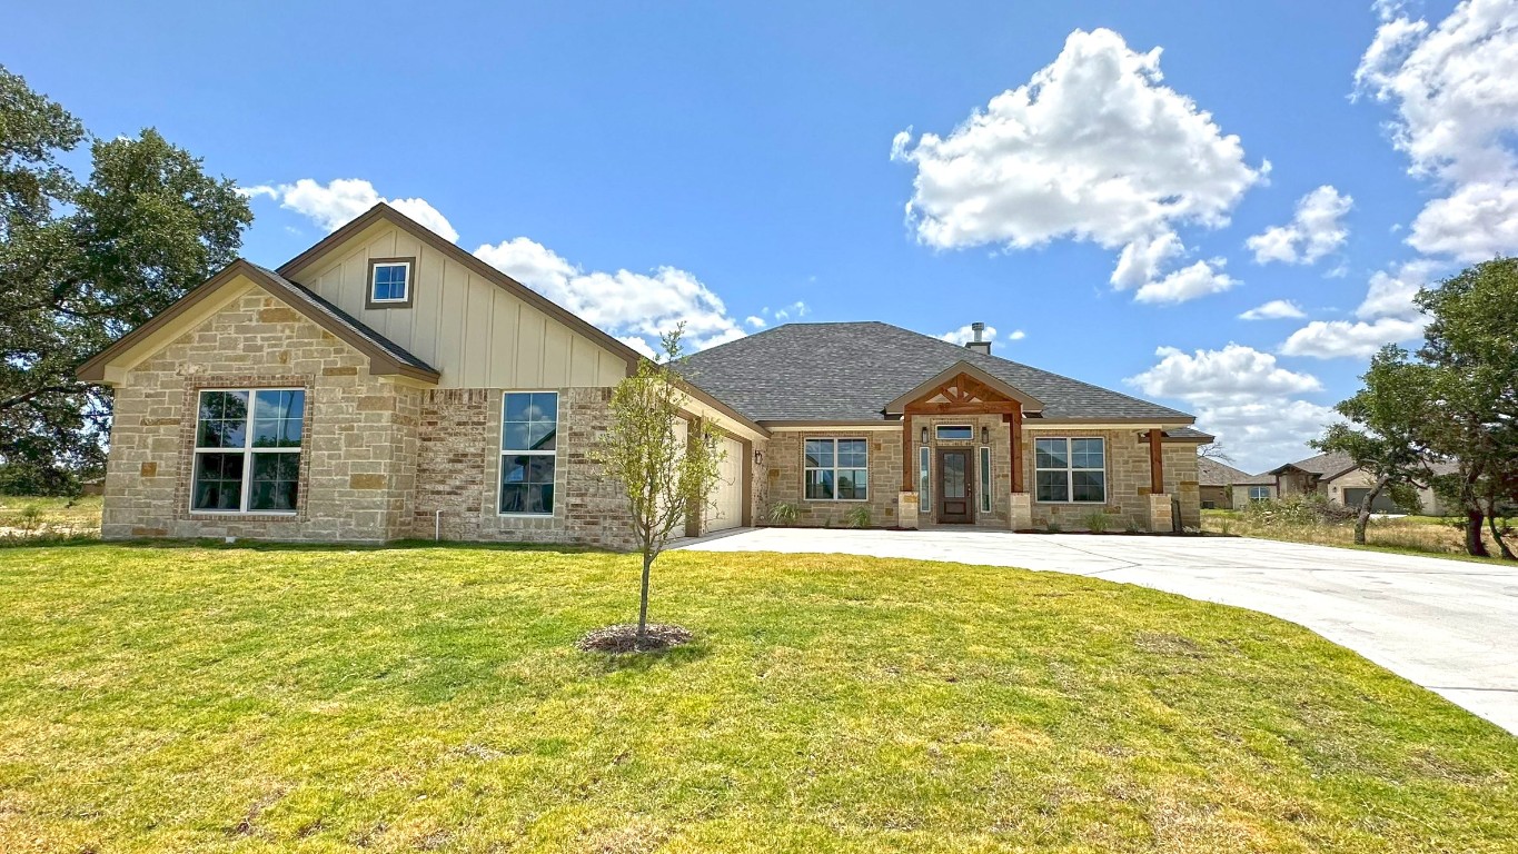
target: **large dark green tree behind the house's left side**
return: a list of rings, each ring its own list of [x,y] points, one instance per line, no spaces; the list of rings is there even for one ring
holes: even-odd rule
[[[156,130],[91,140],[0,67],[0,461],[59,488],[99,467],[109,394],[74,367],[229,264],[252,221],[231,181]]]

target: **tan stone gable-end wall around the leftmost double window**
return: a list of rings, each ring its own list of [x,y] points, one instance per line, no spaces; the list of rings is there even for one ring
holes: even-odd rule
[[[250,291],[115,388],[102,535],[381,542],[410,520],[419,396],[288,305]],[[200,388],[307,391],[294,514],[190,511]]]

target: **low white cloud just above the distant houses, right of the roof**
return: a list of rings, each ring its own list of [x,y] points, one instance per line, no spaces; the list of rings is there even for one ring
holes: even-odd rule
[[[1148,396],[1184,400],[1196,426],[1249,472],[1304,457],[1307,440],[1336,417],[1331,408],[1301,399],[1322,390],[1316,376],[1287,370],[1254,347],[1190,353],[1160,347],[1155,355],[1154,367],[1125,382]]]

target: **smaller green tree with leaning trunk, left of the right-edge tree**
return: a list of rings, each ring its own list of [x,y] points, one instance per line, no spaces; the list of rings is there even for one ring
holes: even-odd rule
[[[1357,508],[1356,543],[1365,545],[1375,496],[1395,484],[1428,482],[1430,449],[1424,431],[1435,414],[1428,400],[1430,373],[1427,366],[1410,363],[1407,350],[1383,347],[1360,378],[1365,388],[1334,407],[1350,423],[1336,423],[1312,441],[1318,451],[1346,454],[1375,478]]]

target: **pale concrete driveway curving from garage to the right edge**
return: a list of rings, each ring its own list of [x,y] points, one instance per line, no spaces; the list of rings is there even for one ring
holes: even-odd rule
[[[1254,608],[1518,734],[1518,569],[1242,537],[757,528],[679,548],[1017,566]]]

